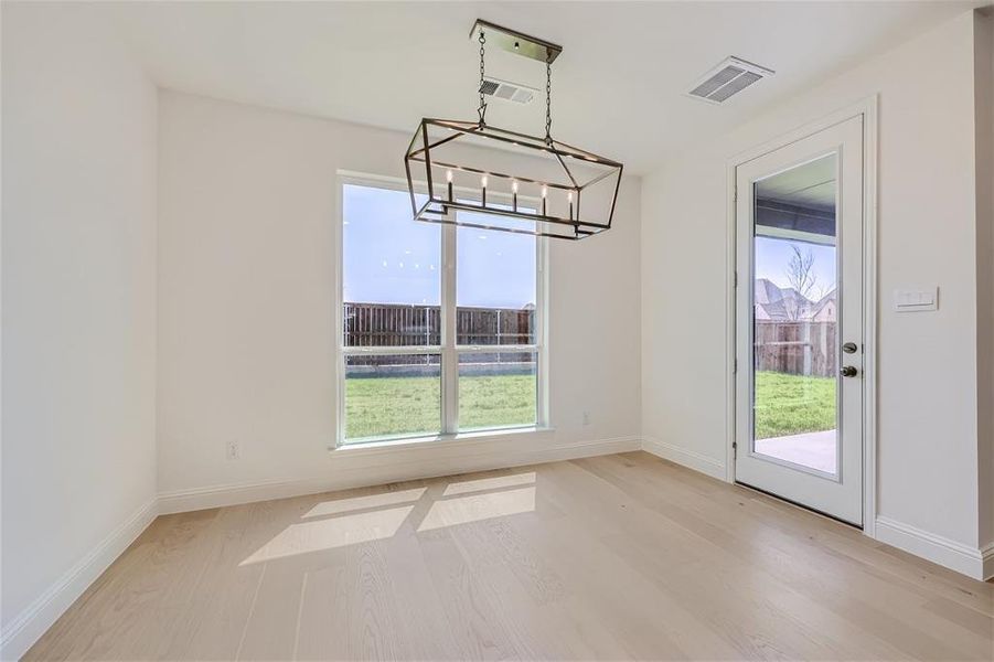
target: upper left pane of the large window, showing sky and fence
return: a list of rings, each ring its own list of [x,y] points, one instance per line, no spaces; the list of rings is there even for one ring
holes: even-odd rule
[[[342,188],[345,346],[440,344],[441,231],[405,191]]]

